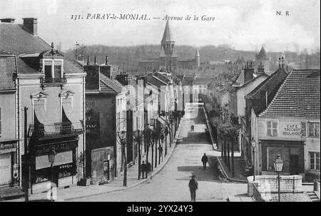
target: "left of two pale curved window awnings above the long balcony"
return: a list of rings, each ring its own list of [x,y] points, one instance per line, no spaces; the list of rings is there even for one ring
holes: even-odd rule
[[[44,101],[35,101],[34,113],[39,123],[44,125],[44,130],[46,132],[50,133],[56,131],[54,121],[49,120],[48,115],[46,115],[46,110],[44,110]]]

